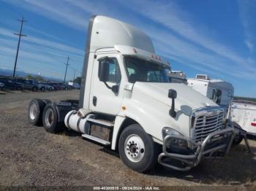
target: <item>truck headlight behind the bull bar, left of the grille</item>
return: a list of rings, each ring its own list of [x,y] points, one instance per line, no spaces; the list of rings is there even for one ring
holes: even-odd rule
[[[177,130],[174,130],[172,128],[162,128],[162,137],[165,139],[165,136],[167,135],[174,135],[174,136],[182,136],[181,133],[178,133]],[[188,144],[187,141],[184,139],[178,139],[178,137],[173,137],[167,140],[167,147],[172,148],[172,147],[182,147],[182,148],[187,148]]]

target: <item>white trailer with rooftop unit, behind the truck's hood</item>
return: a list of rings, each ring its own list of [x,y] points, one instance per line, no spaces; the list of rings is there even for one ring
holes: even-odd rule
[[[188,86],[223,106],[227,112],[233,99],[234,87],[221,79],[211,79],[206,74],[197,74],[195,78],[187,79]]]

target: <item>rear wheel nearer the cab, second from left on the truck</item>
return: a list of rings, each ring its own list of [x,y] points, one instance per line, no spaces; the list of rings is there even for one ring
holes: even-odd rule
[[[48,133],[59,133],[64,130],[64,122],[59,122],[56,104],[49,103],[45,106],[42,125]]]

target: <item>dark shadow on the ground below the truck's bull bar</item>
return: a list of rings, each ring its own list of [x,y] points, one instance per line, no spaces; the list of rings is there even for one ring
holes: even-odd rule
[[[203,184],[245,184],[256,181],[256,147],[248,153],[244,144],[233,147],[222,159],[203,160],[191,171],[181,172],[160,165],[150,174],[175,177]]]

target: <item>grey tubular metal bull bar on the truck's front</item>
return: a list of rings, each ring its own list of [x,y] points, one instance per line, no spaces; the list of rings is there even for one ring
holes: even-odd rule
[[[229,141],[227,141],[224,144],[220,144],[217,147],[213,147],[211,149],[206,149],[206,146],[211,142],[211,139],[214,139],[216,136],[229,136]],[[229,152],[230,147],[233,143],[233,138],[235,136],[235,131],[233,128],[225,128],[222,130],[214,131],[213,133],[209,133],[206,139],[203,140],[202,143],[196,143],[195,141],[192,141],[191,139],[184,137],[184,136],[177,136],[177,135],[167,135],[165,136],[165,139],[163,141],[162,150],[163,152],[158,157],[158,162],[161,165],[164,165],[167,168],[172,168],[177,171],[189,171],[191,168],[195,167],[200,163],[204,155],[208,154],[207,158],[215,158],[212,157],[214,152],[220,152],[227,154]],[[187,141],[190,145],[194,145],[195,148],[197,148],[192,155],[184,155],[184,154],[178,154],[176,152],[168,152],[167,151],[167,142],[169,139],[183,139],[184,141]],[[224,150],[224,151],[223,151]],[[176,165],[171,165],[169,163],[165,162],[165,159],[167,160],[174,159],[179,160],[181,163],[186,164],[184,167],[178,167]]]

